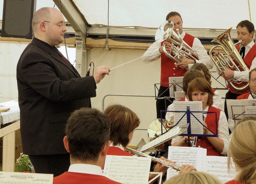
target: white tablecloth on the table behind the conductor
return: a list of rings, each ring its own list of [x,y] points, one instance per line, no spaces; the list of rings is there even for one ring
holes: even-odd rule
[[[20,108],[18,100],[11,100],[0,103],[1,108],[10,108],[7,112],[0,112],[0,123],[6,124],[13,121],[20,120]]]

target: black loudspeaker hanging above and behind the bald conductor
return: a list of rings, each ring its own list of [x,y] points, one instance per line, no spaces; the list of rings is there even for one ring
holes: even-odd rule
[[[35,0],[4,0],[2,37],[32,39]]]

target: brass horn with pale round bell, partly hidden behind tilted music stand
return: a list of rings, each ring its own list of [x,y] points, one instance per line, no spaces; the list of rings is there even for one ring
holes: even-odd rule
[[[173,116],[170,117],[170,119],[167,121],[165,119],[162,119],[162,124],[163,124],[163,132],[166,132],[166,130],[170,129],[171,127],[174,126],[174,118]],[[152,141],[155,138],[158,138],[159,136],[162,135],[161,132],[161,119],[155,119],[153,120],[149,127],[148,127],[148,141]],[[165,149],[167,149],[167,147],[165,146],[166,143],[163,143],[159,146],[156,147],[157,151],[164,151]]]

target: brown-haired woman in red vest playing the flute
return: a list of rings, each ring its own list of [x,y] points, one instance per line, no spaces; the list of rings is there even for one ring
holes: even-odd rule
[[[120,155],[120,156],[134,156],[126,151],[124,148],[128,146],[132,140],[132,136],[135,128],[140,125],[140,119],[138,116],[130,110],[129,108],[114,104],[108,106],[104,113],[110,119],[110,147],[108,149],[107,155]],[[167,160],[161,157],[162,160],[173,163],[171,160]],[[158,163],[154,168],[154,172],[166,173],[168,167]],[[191,170],[196,170],[193,166],[182,165],[180,173],[190,172]],[[154,178],[155,175],[150,174],[149,180]]]

